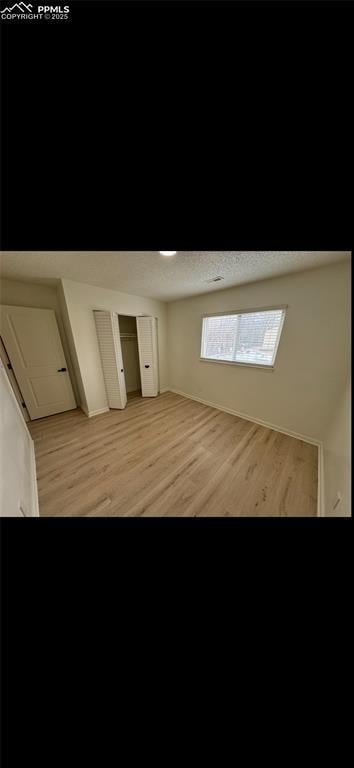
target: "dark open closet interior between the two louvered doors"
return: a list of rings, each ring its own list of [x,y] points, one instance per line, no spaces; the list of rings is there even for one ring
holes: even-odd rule
[[[141,397],[138,332],[136,317],[118,315],[125,387],[128,400]]]

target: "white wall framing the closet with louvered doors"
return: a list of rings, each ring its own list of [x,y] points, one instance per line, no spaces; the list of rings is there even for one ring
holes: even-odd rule
[[[154,299],[97,288],[72,280],[62,280],[61,283],[62,297],[71,327],[69,343],[73,346],[73,353],[77,359],[84,410],[96,413],[108,407],[93,316],[94,309],[109,310],[122,315],[146,314],[157,318],[160,388],[165,389],[168,385],[166,304]]]

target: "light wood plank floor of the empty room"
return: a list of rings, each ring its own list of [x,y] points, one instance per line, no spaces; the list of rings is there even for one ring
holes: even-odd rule
[[[315,516],[317,448],[166,392],[31,422],[41,516]]]

